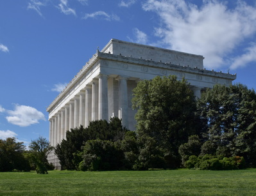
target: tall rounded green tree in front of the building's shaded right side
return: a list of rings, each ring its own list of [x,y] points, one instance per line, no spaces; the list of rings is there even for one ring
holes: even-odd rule
[[[138,136],[146,135],[164,149],[167,167],[179,167],[178,147],[187,142],[189,135],[202,130],[189,84],[185,79],[177,80],[176,76],[157,76],[138,82],[133,95]]]

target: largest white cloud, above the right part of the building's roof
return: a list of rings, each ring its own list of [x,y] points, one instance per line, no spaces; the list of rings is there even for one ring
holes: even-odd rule
[[[142,8],[160,17],[155,36],[161,45],[201,54],[207,68],[229,64],[229,55],[256,32],[256,8],[244,1],[230,9],[218,0],[203,1],[200,7],[184,0],[148,0]]]

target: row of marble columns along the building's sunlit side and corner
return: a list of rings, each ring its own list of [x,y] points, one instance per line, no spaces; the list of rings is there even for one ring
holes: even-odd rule
[[[80,125],[87,127],[90,121],[98,119],[108,121],[111,117],[109,114],[118,116],[122,119],[123,126],[128,127],[127,78],[115,78],[119,84],[118,103],[115,103],[112,96],[108,94],[108,79],[110,78],[107,75],[98,75],[49,119],[49,141],[51,146],[56,146],[62,139],[65,139],[67,130],[79,128]],[[109,98],[112,100],[109,100]],[[110,102],[112,102],[112,105],[118,104],[118,112],[114,112],[114,109],[109,111],[108,105]]]

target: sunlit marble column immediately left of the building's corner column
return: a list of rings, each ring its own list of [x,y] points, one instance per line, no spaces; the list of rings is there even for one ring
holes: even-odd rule
[[[98,79],[92,80],[92,121],[98,120],[98,98],[99,98]]]

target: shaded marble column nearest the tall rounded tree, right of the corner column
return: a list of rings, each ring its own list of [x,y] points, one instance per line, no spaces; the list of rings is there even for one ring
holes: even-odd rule
[[[122,119],[124,127],[129,128],[128,124],[128,94],[127,94],[127,78],[118,77],[119,80],[119,111],[118,117]]]

